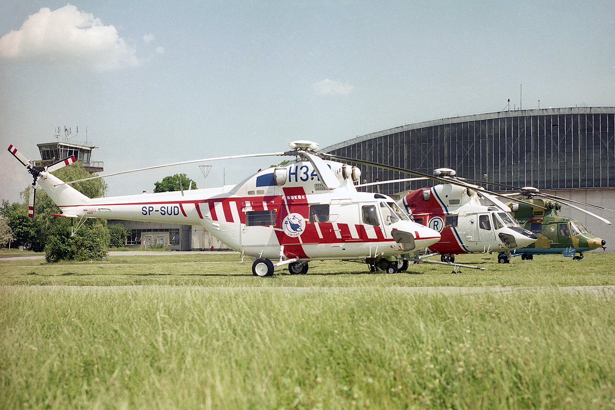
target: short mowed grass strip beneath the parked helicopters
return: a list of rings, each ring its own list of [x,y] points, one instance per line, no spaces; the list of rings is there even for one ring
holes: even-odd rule
[[[435,260],[439,260],[435,256]],[[167,285],[167,286],[587,286],[615,285],[615,253],[585,253],[582,261],[561,255],[536,256],[533,261],[511,259],[498,264],[496,255],[458,255],[462,264],[489,270],[413,264],[407,272],[369,272],[355,262],[313,261],[307,275],[290,275],[287,267],[273,277],[252,275],[252,261],[240,254],[173,254],[109,256],[107,262],[59,262],[41,259],[0,260],[0,285]]]

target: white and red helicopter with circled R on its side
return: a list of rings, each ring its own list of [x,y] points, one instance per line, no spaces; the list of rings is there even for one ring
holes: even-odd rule
[[[438,168],[431,176],[374,162],[328,157],[419,176],[383,183],[415,179],[438,181],[439,184],[432,187],[404,192],[397,203],[415,222],[440,232],[442,239],[429,246],[429,251],[440,254],[442,262],[454,262],[456,254],[497,252],[498,262],[507,263],[511,250],[531,245],[538,239],[512,218],[510,208],[496,197],[499,194],[457,178],[450,168]]]

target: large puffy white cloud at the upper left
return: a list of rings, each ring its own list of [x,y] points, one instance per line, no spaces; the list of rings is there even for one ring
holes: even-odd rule
[[[51,11],[43,7],[28,17],[20,30],[0,37],[0,58],[49,61],[96,71],[137,66],[135,50],[93,14],[67,4]]]

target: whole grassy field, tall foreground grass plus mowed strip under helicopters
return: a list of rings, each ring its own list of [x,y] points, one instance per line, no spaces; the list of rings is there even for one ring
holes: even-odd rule
[[[615,300],[561,290],[615,285],[614,259],[271,278],[237,254],[4,260],[0,408],[615,409]]]

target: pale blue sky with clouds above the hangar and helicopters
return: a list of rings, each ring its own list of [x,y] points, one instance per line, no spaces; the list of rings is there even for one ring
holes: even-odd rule
[[[108,173],[322,148],[424,120],[511,108],[613,106],[612,1],[39,1],[0,5],[0,196],[31,181],[55,127]],[[520,95],[522,84],[523,94]],[[523,98],[522,101],[521,97]],[[213,163],[207,186],[279,157]],[[106,179],[153,191],[198,165]]]

